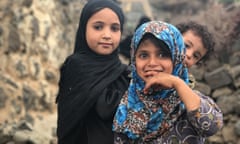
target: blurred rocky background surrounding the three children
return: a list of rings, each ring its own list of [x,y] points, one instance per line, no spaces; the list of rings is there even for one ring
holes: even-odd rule
[[[0,144],[57,143],[59,67],[73,50],[85,2],[0,1]],[[211,96],[224,113],[223,129],[207,143],[240,144],[239,1],[149,0],[150,13],[140,0],[133,0],[130,10],[126,1],[118,2],[127,16],[124,36],[144,14],[173,24],[192,19],[209,27],[217,40],[216,56],[191,69],[196,89]]]

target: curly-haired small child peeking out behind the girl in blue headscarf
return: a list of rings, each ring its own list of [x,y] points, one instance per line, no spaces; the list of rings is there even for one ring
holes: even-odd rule
[[[193,65],[205,64],[214,52],[215,40],[208,28],[195,21],[182,22],[176,25],[183,35],[186,46],[185,64],[188,68]],[[196,80],[189,74],[189,86],[195,87]]]

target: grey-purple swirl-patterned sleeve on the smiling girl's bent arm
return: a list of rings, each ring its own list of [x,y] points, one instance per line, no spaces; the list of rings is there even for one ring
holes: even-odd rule
[[[200,96],[201,104],[199,109],[188,112],[188,119],[199,135],[212,136],[223,126],[222,111],[210,97],[195,92]]]

